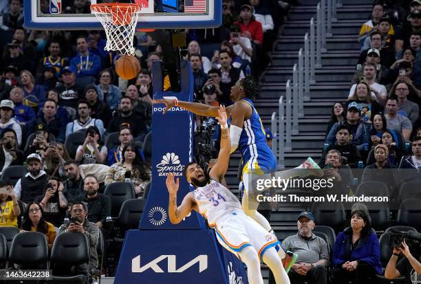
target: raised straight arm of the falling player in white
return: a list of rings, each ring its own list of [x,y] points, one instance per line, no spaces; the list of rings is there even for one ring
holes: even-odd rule
[[[221,144],[218,160],[215,166],[213,166],[210,170],[209,176],[218,182],[221,182],[221,179],[224,177],[226,170],[228,169],[231,149],[230,130],[228,129],[228,124],[226,123],[226,111],[223,105],[219,106],[217,120],[221,126]]]

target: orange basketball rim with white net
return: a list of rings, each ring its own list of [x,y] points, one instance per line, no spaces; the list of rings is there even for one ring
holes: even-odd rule
[[[127,3],[92,4],[93,12],[107,34],[105,50],[134,55],[133,36],[142,6]]]

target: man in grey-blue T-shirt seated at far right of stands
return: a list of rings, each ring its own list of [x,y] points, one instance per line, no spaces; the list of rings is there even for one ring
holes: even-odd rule
[[[409,141],[412,131],[412,124],[409,118],[398,113],[398,98],[391,96],[385,107],[387,128],[402,133],[404,140]]]

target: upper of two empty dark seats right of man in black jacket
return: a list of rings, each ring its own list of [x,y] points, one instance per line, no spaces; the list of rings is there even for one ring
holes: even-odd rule
[[[104,194],[111,198],[111,217],[118,216],[124,201],[135,198],[131,182],[113,182],[107,185]]]

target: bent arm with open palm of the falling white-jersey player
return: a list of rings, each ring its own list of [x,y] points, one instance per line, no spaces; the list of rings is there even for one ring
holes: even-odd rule
[[[169,173],[166,176],[165,184],[169,193],[169,219],[173,224],[180,223],[182,219],[186,217],[192,209],[195,208],[193,193],[188,193],[188,195],[184,197],[182,204],[177,207],[177,192],[178,187],[180,185],[180,179],[177,177],[177,179],[175,180],[174,174]]]

